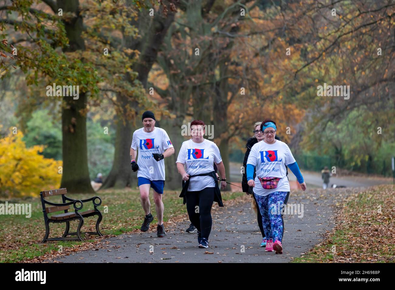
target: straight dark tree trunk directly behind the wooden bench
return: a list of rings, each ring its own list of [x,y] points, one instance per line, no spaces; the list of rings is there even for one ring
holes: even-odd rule
[[[69,47],[64,52],[85,50],[83,19],[79,15],[79,1],[57,1],[63,13],[73,12],[75,17],[64,21]],[[73,84],[78,85],[78,84]],[[62,159],[63,174],[60,187],[67,188],[70,193],[94,193],[90,185],[87,150],[87,119],[81,114],[87,107],[87,95],[81,93],[79,99],[63,97],[65,107],[62,109]]]

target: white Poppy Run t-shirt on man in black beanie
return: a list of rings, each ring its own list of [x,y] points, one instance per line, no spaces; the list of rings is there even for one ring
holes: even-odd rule
[[[163,154],[167,148],[173,147],[169,136],[162,128],[154,127],[154,131],[145,132],[144,128],[133,133],[132,146],[137,150],[137,177],[145,177],[149,180],[165,180],[165,161],[156,161],[152,153]]]

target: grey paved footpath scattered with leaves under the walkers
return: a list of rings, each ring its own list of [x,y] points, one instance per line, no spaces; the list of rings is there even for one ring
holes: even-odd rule
[[[199,249],[196,232],[184,232],[187,221],[167,228],[165,238],[156,232],[123,234],[103,241],[106,248],[73,253],[56,262],[290,262],[320,243],[325,230],[334,226],[333,204],[360,189],[310,189],[291,193],[288,204],[303,204],[303,217],[284,215],[283,254],[265,252],[250,199],[235,206],[213,207],[209,248]],[[154,220],[155,221],[155,220]],[[153,223],[156,228],[156,224]],[[165,225],[166,226],[166,225]],[[152,253],[151,253],[152,252]]]

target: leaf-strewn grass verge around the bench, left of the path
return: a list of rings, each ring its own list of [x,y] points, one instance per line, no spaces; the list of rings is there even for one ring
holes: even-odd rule
[[[152,193],[152,191],[151,191]],[[122,189],[122,190],[107,190],[99,191],[97,196],[102,198],[102,205],[99,210],[103,214],[103,220],[100,223],[100,231],[104,238],[110,236],[117,236],[125,232],[132,232],[139,229],[144,214],[141,204],[138,189]],[[224,201],[243,196],[243,193],[222,192]],[[71,198],[84,199],[92,197],[86,194],[69,195]],[[164,223],[166,227],[176,226],[180,217],[186,218],[186,207],[182,206],[182,198],[179,198],[178,191],[165,191],[164,203]],[[61,202],[60,196],[51,196],[47,198],[51,202]],[[155,205],[151,200],[151,212],[156,222]],[[2,202],[4,203],[4,202]],[[45,234],[45,225],[43,219],[43,212],[41,208],[40,196],[37,198],[13,199],[8,200],[8,203],[24,203],[31,204],[32,214],[30,218],[24,215],[0,215],[0,262],[34,262],[36,258],[56,253],[60,251],[74,251],[89,249],[103,238],[97,236],[83,236],[85,241],[48,241],[41,243]],[[216,206],[216,203],[215,203]],[[93,209],[93,204],[85,203],[82,211]],[[58,212],[59,213],[59,212]],[[55,213],[57,214],[57,213]],[[84,219],[82,231],[94,231],[94,226],[97,217],[88,217]],[[66,227],[65,223],[50,225],[51,237],[62,236]],[[77,228],[77,221],[70,223],[70,232]],[[39,260],[37,260],[39,261]]]

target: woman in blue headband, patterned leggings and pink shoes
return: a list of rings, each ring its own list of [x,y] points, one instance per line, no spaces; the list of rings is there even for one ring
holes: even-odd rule
[[[306,183],[288,145],[275,139],[276,130],[274,121],[266,119],[262,122],[264,140],[252,146],[246,172],[248,185],[254,187],[254,195],[262,215],[267,241],[265,251],[282,254],[284,221],[281,210],[290,194],[286,165],[295,174],[303,190],[306,190]],[[278,208],[279,205],[281,208]]]

